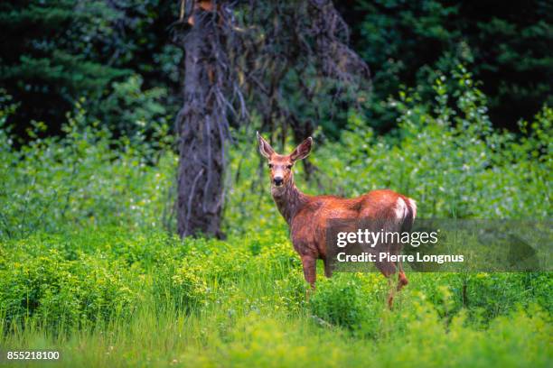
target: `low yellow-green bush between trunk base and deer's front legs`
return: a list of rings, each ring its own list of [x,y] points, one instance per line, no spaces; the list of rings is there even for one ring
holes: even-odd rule
[[[241,237],[228,242],[187,239],[183,259],[169,255],[157,262],[155,299],[164,308],[198,312],[220,299],[233,299],[238,285],[251,284],[268,289],[253,292],[275,293],[272,298],[277,305],[294,310],[305,296],[301,262],[288,244],[269,246],[267,241],[271,239],[255,235],[246,241]]]

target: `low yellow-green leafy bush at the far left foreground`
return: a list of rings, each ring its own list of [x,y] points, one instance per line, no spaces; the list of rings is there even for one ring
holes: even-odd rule
[[[64,260],[52,250],[0,269],[0,310],[8,323],[33,318],[45,328],[76,327],[128,317],[140,299],[135,275],[117,262],[81,255]]]

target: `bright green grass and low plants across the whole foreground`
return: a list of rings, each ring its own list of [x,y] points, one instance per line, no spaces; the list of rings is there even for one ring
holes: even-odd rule
[[[553,359],[548,273],[410,273],[390,311],[388,283],[377,273],[327,280],[319,267],[318,289],[305,301],[301,265],[281,226],[185,243],[114,228],[36,235],[0,249],[0,305],[25,306],[4,323],[3,350],[59,350],[61,366],[548,366]],[[61,262],[49,281],[53,294],[79,290],[89,304],[54,303],[41,282],[27,285],[23,299],[8,288],[21,267],[49,272],[36,259]],[[86,273],[88,265],[98,274]],[[109,292],[98,283],[111,283]],[[501,290],[493,294],[499,304],[483,303],[492,290]]]

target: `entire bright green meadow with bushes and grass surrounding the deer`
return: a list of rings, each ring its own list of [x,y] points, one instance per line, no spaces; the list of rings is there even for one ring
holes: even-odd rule
[[[445,78],[445,77],[444,77]],[[422,218],[547,219],[551,122],[494,129],[462,67],[434,99],[401,92],[398,129],[351,114],[315,134],[308,193],[390,188]],[[64,134],[34,124],[19,146],[0,108],[0,365],[59,351],[60,366],[467,366],[553,363],[550,272],[416,273],[396,305],[378,273],[323,277],[305,299],[301,262],[268,191],[255,121],[233,131],[226,239],[174,234],[173,137],[164,124],[115,137],[78,105]],[[322,143],[322,144],[318,144]],[[291,149],[290,145],[277,151]]]

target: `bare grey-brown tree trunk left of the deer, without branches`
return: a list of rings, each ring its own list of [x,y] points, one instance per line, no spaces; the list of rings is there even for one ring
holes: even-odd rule
[[[213,92],[217,23],[212,13],[196,11],[192,29],[183,39],[186,53],[183,107],[177,116],[179,170],[177,231],[187,235],[221,236],[224,200],[224,107]]]

